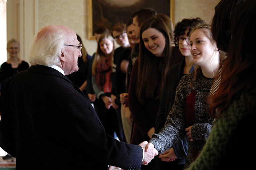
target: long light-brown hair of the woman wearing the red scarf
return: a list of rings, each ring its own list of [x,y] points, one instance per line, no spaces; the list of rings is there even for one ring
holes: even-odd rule
[[[95,58],[93,60],[93,63],[92,63],[92,75],[95,76],[96,75],[96,65],[97,65],[97,62],[100,60],[101,57],[106,57],[106,55],[101,51],[100,49],[100,42],[103,40],[103,39],[109,39],[113,42],[113,50],[112,52],[110,53],[110,58],[108,58],[108,62],[109,64],[112,66],[112,63],[113,63],[113,55],[114,55],[114,50],[115,50],[115,43],[114,43],[114,39],[113,37],[109,34],[109,33],[104,33],[102,34],[100,37],[99,37],[99,42],[98,42],[98,46],[97,46],[97,51],[96,51],[96,54],[95,54]]]

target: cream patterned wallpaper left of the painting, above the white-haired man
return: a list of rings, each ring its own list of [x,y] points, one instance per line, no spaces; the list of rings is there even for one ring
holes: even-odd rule
[[[87,0],[39,0],[39,28],[58,24],[70,27],[78,34],[92,55],[97,48],[94,40],[87,40]]]

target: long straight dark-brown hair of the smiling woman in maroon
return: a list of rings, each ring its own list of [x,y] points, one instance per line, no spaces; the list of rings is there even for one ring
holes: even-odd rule
[[[161,32],[166,39],[163,57],[158,65],[157,57],[151,53],[144,45],[142,37],[140,36],[139,47],[139,69],[138,81],[136,85],[136,96],[141,104],[145,104],[146,99],[160,99],[163,92],[164,81],[166,73],[172,65],[172,40],[170,37],[170,30],[165,22],[160,17],[152,17],[146,20],[141,28],[140,35],[148,28],[154,28]],[[160,70],[160,77],[159,77]],[[155,94],[155,84],[159,81],[157,87],[157,94]]]

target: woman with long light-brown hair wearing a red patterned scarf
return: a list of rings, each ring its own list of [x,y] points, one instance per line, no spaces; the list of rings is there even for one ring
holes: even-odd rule
[[[92,87],[99,99],[97,115],[106,133],[114,137],[118,106],[112,101],[112,64],[114,54],[114,39],[109,33],[99,37],[97,52],[92,64]]]

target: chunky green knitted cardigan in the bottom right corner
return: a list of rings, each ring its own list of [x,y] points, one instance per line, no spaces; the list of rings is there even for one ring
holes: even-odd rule
[[[238,96],[213,126],[189,170],[254,169],[255,110],[255,89]]]

